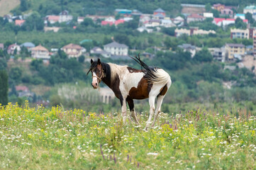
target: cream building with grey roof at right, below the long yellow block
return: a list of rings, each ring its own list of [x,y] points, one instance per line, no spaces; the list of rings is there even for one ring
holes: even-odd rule
[[[245,45],[243,44],[231,44],[227,43],[225,45],[226,54],[228,60],[235,60],[235,57],[245,55]]]

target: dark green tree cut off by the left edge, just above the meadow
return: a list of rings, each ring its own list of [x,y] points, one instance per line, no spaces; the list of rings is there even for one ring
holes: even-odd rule
[[[5,70],[0,70],[0,103],[8,103],[8,75]]]

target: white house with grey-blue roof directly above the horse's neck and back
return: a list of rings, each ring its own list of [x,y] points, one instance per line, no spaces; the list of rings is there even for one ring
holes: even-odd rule
[[[118,56],[127,56],[128,55],[128,46],[124,44],[119,44],[118,42],[111,42],[107,45],[104,45],[104,50],[110,52],[111,55]]]

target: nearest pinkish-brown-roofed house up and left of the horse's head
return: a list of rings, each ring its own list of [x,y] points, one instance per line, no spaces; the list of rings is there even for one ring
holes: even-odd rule
[[[81,56],[84,52],[86,52],[84,47],[81,47],[80,45],[75,45],[72,43],[70,43],[69,45],[65,45],[64,47],[61,48],[61,50],[63,50],[69,58],[70,57],[77,58]]]

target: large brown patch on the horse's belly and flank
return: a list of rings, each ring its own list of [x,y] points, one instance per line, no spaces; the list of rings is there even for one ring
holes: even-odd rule
[[[137,88],[132,87],[129,91],[129,98],[132,99],[144,99],[148,98],[148,94],[150,94],[150,90],[152,88],[152,84],[148,84],[148,80],[143,77],[140,79]]]

